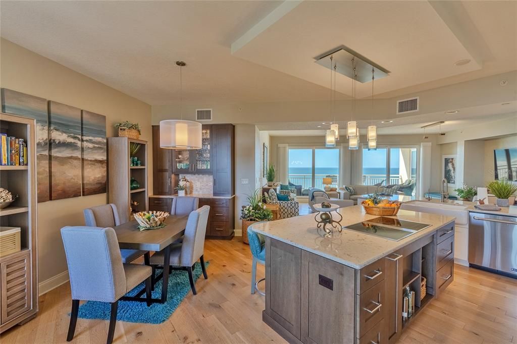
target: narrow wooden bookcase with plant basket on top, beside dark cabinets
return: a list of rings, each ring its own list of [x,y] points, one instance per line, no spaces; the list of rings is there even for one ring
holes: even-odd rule
[[[141,145],[134,156],[142,162],[142,166],[130,166],[130,143]],[[131,178],[140,183],[139,189],[130,189]],[[121,223],[130,220],[132,201],[138,202],[137,206],[132,206],[133,210],[148,209],[147,141],[127,137],[108,138],[108,190],[109,202],[117,206]]]

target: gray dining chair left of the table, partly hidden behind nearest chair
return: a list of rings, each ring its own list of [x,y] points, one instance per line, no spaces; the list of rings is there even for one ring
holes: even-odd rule
[[[84,222],[88,227],[115,227],[120,225],[117,207],[114,204],[104,204],[102,206],[87,208],[83,211]],[[139,249],[121,249],[123,263],[129,263],[136,258],[144,255],[145,265],[149,265],[149,252]]]

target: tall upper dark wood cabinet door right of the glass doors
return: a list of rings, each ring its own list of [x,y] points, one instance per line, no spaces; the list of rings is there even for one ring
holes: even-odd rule
[[[234,194],[234,136],[233,124],[212,125],[214,195]]]

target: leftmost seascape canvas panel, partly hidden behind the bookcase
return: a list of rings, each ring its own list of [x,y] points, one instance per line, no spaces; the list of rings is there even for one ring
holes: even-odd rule
[[[47,100],[2,88],[2,112],[36,120],[38,202],[50,200],[49,112]],[[29,163],[31,163],[29,161]]]

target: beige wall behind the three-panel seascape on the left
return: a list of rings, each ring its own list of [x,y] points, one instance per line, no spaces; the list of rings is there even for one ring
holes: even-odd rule
[[[0,44],[1,87],[105,115],[108,136],[116,136],[115,122],[139,122],[141,139],[150,142],[150,105],[12,42],[2,39]],[[151,155],[148,165],[150,177],[153,175]],[[152,178],[149,178],[148,185],[152,190]],[[38,204],[40,283],[67,270],[60,228],[84,225],[83,209],[106,202],[107,194],[100,194]]]

